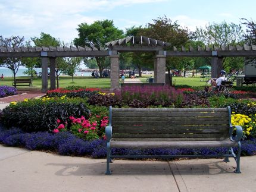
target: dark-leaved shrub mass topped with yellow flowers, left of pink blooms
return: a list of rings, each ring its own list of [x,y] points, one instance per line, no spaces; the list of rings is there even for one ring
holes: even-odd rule
[[[2,122],[7,127],[24,131],[48,131],[57,127],[57,119],[67,122],[68,117],[89,117],[89,109],[81,99],[46,98],[12,102],[2,111]]]

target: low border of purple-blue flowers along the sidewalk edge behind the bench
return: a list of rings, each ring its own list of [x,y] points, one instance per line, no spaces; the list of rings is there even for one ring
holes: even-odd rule
[[[106,141],[96,139],[85,141],[66,131],[57,134],[48,132],[24,133],[21,129],[7,130],[0,126],[0,143],[7,146],[24,147],[29,150],[47,150],[60,155],[91,156],[105,158]],[[113,148],[113,155],[217,155],[226,152],[226,148],[214,149],[117,149]],[[236,152],[236,148],[235,148]],[[242,155],[255,155],[256,140],[242,141]]]

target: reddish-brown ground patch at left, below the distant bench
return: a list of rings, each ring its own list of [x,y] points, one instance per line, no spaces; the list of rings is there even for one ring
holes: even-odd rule
[[[18,95],[12,95],[8,97],[0,98],[0,103],[10,103],[17,102],[24,99],[32,99],[35,97],[44,96],[45,93],[41,93],[40,90],[32,90],[32,91],[18,91]]]

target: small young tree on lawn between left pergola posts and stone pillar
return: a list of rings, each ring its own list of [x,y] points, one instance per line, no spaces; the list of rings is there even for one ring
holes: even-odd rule
[[[66,58],[67,68],[63,70],[63,73],[72,77],[72,83],[74,83],[74,74],[82,61],[80,57]]]

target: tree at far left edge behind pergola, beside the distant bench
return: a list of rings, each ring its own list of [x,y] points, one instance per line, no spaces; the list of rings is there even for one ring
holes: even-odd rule
[[[24,37],[20,37],[20,36],[11,36],[7,38],[0,36],[0,46],[5,48],[23,46],[23,41],[24,41]],[[11,71],[13,71],[13,78],[15,81],[18,68],[23,64],[21,62],[21,58],[2,58],[0,65],[7,67]]]

